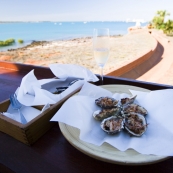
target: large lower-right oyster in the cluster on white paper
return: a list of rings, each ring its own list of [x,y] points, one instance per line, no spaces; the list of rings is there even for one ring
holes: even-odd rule
[[[143,115],[130,113],[124,119],[124,128],[133,136],[141,136],[147,129],[147,122]]]

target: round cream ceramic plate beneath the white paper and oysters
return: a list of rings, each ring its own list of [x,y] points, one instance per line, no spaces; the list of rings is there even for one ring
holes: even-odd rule
[[[103,85],[103,88],[112,93],[127,93],[130,94],[129,89],[137,91],[149,92],[147,89],[129,86],[129,85]],[[83,142],[79,139],[79,129],[59,123],[60,129],[64,137],[76,149],[85,153],[86,155],[105,162],[121,164],[121,165],[147,165],[166,160],[170,157],[143,155],[133,149],[128,149],[125,152],[119,151],[111,145],[104,143],[101,146],[96,146],[90,143]]]

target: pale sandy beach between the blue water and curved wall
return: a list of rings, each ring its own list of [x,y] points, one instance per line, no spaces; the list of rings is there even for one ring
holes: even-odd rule
[[[104,74],[141,57],[155,45],[147,31],[114,36],[110,40],[110,56],[104,67]],[[39,66],[54,63],[78,64],[95,74],[100,73],[93,56],[92,38],[31,44],[24,48],[0,52],[0,60]]]

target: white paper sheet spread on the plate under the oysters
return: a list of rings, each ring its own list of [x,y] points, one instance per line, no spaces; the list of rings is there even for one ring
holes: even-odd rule
[[[131,137],[125,131],[108,135],[101,129],[100,122],[92,116],[93,112],[99,109],[95,99],[111,96],[120,100],[127,94],[113,94],[87,82],[77,96],[69,98],[63,104],[51,121],[63,122],[80,129],[79,138],[94,145],[100,146],[107,142],[120,151],[132,148],[141,154],[173,156],[173,90],[151,92],[130,90],[130,92],[137,95],[135,103],[148,111],[146,119],[149,125],[141,137]]]

